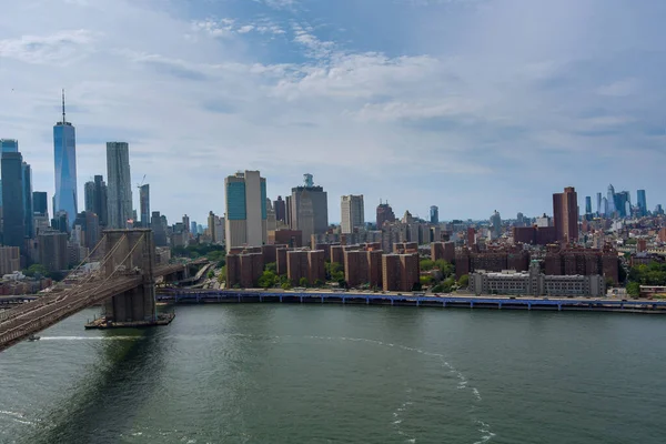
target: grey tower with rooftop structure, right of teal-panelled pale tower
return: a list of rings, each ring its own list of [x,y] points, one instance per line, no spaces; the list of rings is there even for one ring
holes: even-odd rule
[[[329,198],[322,186],[314,185],[312,174],[303,174],[303,185],[292,188],[292,230],[301,230],[303,245],[310,243],[312,234],[325,233],[329,229]]]

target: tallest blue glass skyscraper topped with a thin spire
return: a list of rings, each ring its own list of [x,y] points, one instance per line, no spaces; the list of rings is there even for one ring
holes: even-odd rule
[[[53,158],[56,162],[53,213],[65,211],[70,223],[73,223],[78,213],[77,131],[64,117],[64,90],[62,90],[62,121],[53,127]]]

